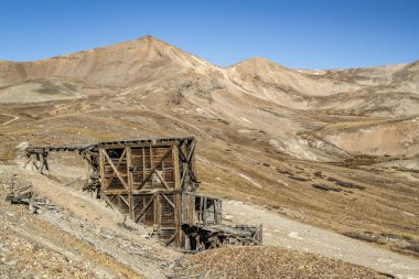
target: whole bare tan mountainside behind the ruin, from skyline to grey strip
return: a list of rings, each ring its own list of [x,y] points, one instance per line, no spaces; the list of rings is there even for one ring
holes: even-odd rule
[[[254,57],[218,67],[151,36],[3,61],[0,159],[14,163],[22,142],[194,136],[204,193],[341,233],[416,239],[418,82],[419,62],[293,69]]]

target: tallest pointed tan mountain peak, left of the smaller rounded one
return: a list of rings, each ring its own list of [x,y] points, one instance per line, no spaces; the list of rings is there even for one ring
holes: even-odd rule
[[[7,63],[0,63],[6,67]],[[105,86],[127,87],[190,69],[202,73],[213,65],[151,35],[49,60],[12,63],[0,82],[66,77]]]

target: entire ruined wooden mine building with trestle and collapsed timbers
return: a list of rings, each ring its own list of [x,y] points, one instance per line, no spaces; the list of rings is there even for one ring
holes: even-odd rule
[[[88,146],[30,147],[29,161],[50,171],[51,152],[78,152],[88,164],[86,191],[111,208],[153,228],[165,245],[203,250],[227,244],[259,245],[261,226],[222,222],[222,201],[197,194],[195,139],[107,141]]]

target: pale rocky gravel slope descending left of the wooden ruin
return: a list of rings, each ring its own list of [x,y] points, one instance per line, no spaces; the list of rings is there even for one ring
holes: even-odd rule
[[[10,175],[0,173],[0,279],[165,278],[163,270],[179,257],[178,253],[146,239],[144,232],[135,224],[115,223],[105,227],[101,222],[94,222],[100,217],[100,211],[80,217],[64,208],[71,201],[78,201],[71,189],[66,189],[66,200],[61,200],[57,192],[63,187],[55,185],[51,191],[52,185],[45,183],[60,205],[42,197],[49,206],[31,214],[28,205],[4,200],[10,181]],[[15,181],[19,185],[28,183],[23,175]],[[36,175],[32,181],[41,182]],[[36,192],[35,195],[41,197]],[[96,202],[86,198],[78,213],[90,210],[89,205]],[[101,207],[106,214],[106,207]]]

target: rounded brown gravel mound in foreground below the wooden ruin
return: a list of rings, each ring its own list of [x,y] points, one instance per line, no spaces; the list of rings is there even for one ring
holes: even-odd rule
[[[279,247],[224,247],[180,260],[173,278],[391,278],[370,268]]]

